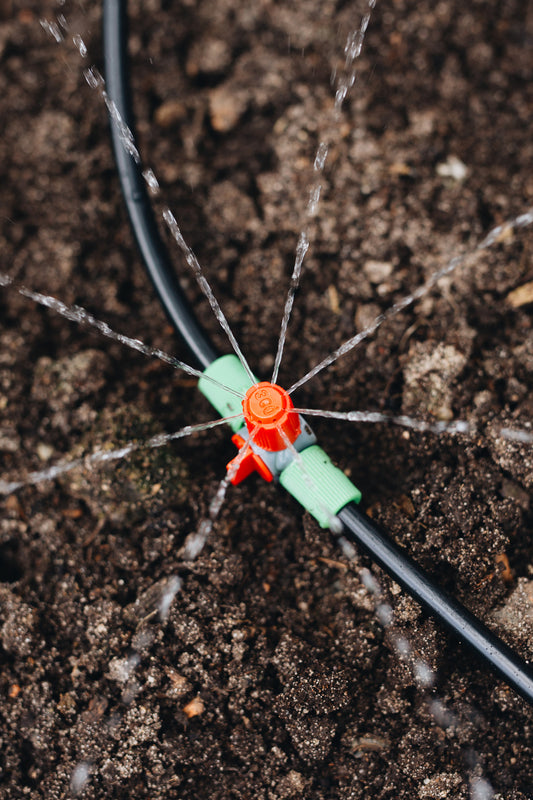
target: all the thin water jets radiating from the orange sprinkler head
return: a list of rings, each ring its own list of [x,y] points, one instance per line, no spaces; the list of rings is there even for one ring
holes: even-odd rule
[[[370,18],[370,10],[373,8],[374,2],[373,0],[368,3],[368,12],[363,17],[363,22],[357,31],[350,35],[348,43],[346,45],[346,65],[345,65],[345,77],[338,82],[336,94],[335,94],[335,108],[340,110],[342,103],[350,90],[350,88],[355,83],[355,71],[353,69],[354,60],[359,56],[361,52],[361,47],[363,44],[363,39],[365,35],[366,28],[368,26],[368,21]],[[63,18],[64,19],[64,18]],[[62,41],[63,34],[61,32],[61,28],[67,29],[66,23],[63,22],[58,23],[47,23],[47,25],[43,25],[48,33],[56,40]],[[83,43],[83,40],[80,36],[75,35],[73,37],[74,44],[76,45],[77,49],[80,52],[82,57],[85,57],[87,54],[87,49]],[[101,77],[94,70],[88,70],[86,72],[86,80],[89,85],[92,85],[94,89],[100,90],[102,92],[102,96],[104,101],[106,102],[108,111],[119,129],[121,130],[121,139],[123,141],[124,147],[127,151],[132,155],[132,157],[137,160],[139,158],[139,153],[133,137],[131,136],[131,132],[123,126],[122,121],[120,120],[120,115],[118,111],[113,106],[109,98],[105,93],[105,88],[101,81]],[[324,166],[326,163],[328,153],[328,147],[325,142],[321,142],[316,154],[314,169],[316,173],[322,173],[324,170]],[[144,172],[145,180],[151,189],[152,192],[158,191],[158,183],[155,175],[151,170],[145,170]],[[314,187],[312,187],[309,195],[309,202],[308,202],[308,216],[312,217],[318,207],[319,199],[321,193],[321,184],[318,182]],[[168,208],[165,209],[163,212],[163,216],[165,219],[166,224],[168,225],[171,233],[174,236],[174,239],[183,252],[189,267],[193,270],[196,275],[196,278],[202,287],[202,290],[206,294],[213,308],[215,315],[226,331],[228,338],[232,343],[232,347],[234,348],[235,352],[241,359],[241,363],[245,369],[247,369],[248,374],[251,376],[251,370],[246,362],[246,359],[242,355],[241,349],[231,333],[229,325],[220,309],[218,301],[213,295],[209,284],[205,280],[203,275],[202,269],[196,260],[196,257],[190,250],[190,248],[185,243],[183,236],[181,234],[180,228],[178,223],[176,222],[172,212]],[[519,216],[512,219],[510,222],[505,223],[504,225],[497,226],[494,228],[486,237],[485,239],[472,251],[472,253],[458,256],[452,259],[444,268],[437,271],[432,275],[428,281],[421,286],[419,289],[415,290],[413,293],[409,294],[407,297],[403,298],[402,300],[395,303],[388,311],[384,312],[383,314],[379,315],[374,323],[368,326],[364,331],[356,334],[355,336],[351,337],[347,340],[343,345],[341,345],[337,350],[335,350],[332,354],[327,356],[323,361],[317,364],[310,372],[308,372],[303,378],[301,378],[297,383],[293,384],[290,388],[290,391],[294,391],[299,386],[306,383],[312,377],[317,375],[322,369],[325,369],[330,364],[334,363],[337,358],[340,358],[345,353],[349,352],[350,350],[357,347],[364,339],[371,336],[377,328],[383,324],[387,319],[391,318],[395,314],[399,313],[401,310],[406,308],[408,305],[412,304],[416,300],[422,298],[425,294],[427,294],[438,282],[438,280],[443,277],[444,275],[448,275],[453,272],[457,267],[465,262],[465,260],[475,253],[490,247],[491,245],[497,243],[507,231],[511,230],[512,228],[524,227],[526,225],[530,225],[533,222],[533,210],[528,210],[527,212],[520,214]],[[303,262],[306,255],[306,252],[309,247],[309,238],[306,231],[302,232],[300,235],[297,251],[296,251],[296,259],[293,269],[293,274],[291,278],[291,285],[289,288],[289,293],[287,296],[287,301],[285,304],[284,314],[283,314],[283,321],[282,321],[282,329],[280,334],[280,340],[278,345],[278,352],[275,359],[275,366],[274,366],[274,377],[277,378],[279,367],[281,364],[281,359],[283,355],[283,349],[286,340],[286,333],[287,327],[289,324],[290,314],[292,310],[292,305],[294,302],[295,292],[299,285],[299,280],[302,272]],[[130,339],[129,337],[123,336],[122,334],[118,334],[109,328],[109,326],[94,318],[91,314],[89,314],[84,309],[74,306],[69,307],[65,304],[61,303],[59,300],[56,300],[53,297],[48,295],[40,294],[38,292],[32,292],[25,287],[16,284],[9,276],[5,274],[0,275],[0,285],[8,287],[11,286],[16,291],[18,291],[21,295],[27,297],[28,299],[39,303],[40,305],[46,306],[56,313],[61,314],[68,320],[90,325],[98,330],[102,335],[107,336],[108,338],[117,341],[125,346],[133,348],[138,352],[141,352],[147,356],[154,356],[171,366],[182,369],[188,374],[194,375],[198,377],[200,375],[199,372],[193,370],[192,368],[184,365],[182,362],[174,359],[171,356],[168,356],[166,353],[156,349],[151,348],[148,345],[145,345],[143,342],[137,339]],[[223,387],[226,388],[227,387]],[[229,390],[232,391],[232,390]],[[233,392],[234,394],[235,393]],[[239,395],[240,396],[240,395]],[[406,426],[410,429],[417,430],[417,431],[430,431],[434,433],[453,433],[453,434],[467,434],[472,435],[476,432],[476,428],[472,423],[467,423],[464,421],[452,421],[452,422],[426,422],[424,420],[416,420],[412,417],[407,417],[405,415],[385,415],[378,412],[359,412],[359,411],[349,411],[349,412],[335,412],[335,411],[321,411],[317,409],[307,409],[304,410],[305,413],[309,415],[315,416],[324,416],[334,419],[344,419],[347,421],[352,422],[366,422],[366,423],[387,423],[387,424],[394,424],[394,425],[402,425]],[[0,492],[12,492],[22,486],[27,485],[28,483],[36,483],[40,480],[52,479],[62,472],[69,471],[71,469],[75,469],[78,467],[87,467],[97,465],[99,463],[106,463],[114,458],[124,458],[129,453],[133,452],[134,450],[140,449],[141,447],[160,447],[166,444],[173,439],[182,438],[184,436],[188,436],[196,431],[199,430],[208,430],[213,428],[217,425],[221,425],[225,422],[225,420],[215,420],[213,422],[204,423],[200,425],[192,425],[186,426],[185,428],[171,434],[160,434],[156,437],[152,437],[152,439],[148,440],[144,443],[129,443],[121,448],[117,448],[115,450],[109,451],[95,451],[94,453],[84,457],[77,459],[76,461],[72,462],[65,462],[63,464],[55,465],[55,467],[51,467],[49,470],[43,470],[41,472],[35,472],[27,476],[26,479],[21,480],[19,482],[12,481],[12,482],[0,482]],[[501,428],[499,433],[504,438],[508,438],[510,440],[517,441],[519,443],[531,443],[533,441],[533,434],[531,434],[527,430],[515,430],[511,428]],[[237,457],[237,462],[239,459],[244,458],[246,454],[246,448],[249,446],[250,440],[253,439],[253,434],[251,435],[250,439],[244,445],[241,450],[239,451],[239,455]],[[293,450],[293,446],[290,442],[286,442],[287,447]],[[300,459],[301,457],[299,454],[294,451],[293,453],[296,459]],[[231,482],[231,478],[233,477],[233,470],[238,468],[238,463],[230,470],[230,472],[224,476],[224,478],[220,481],[220,484],[215,492],[214,497],[212,498],[209,509],[208,509],[208,517],[202,520],[197,528],[195,533],[191,534],[190,537],[187,539],[184,550],[183,550],[183,557],[189,560],[193,560],[198,556],[200,551],[205,545],[207,538],[210,532],[213,529],[213,526],[218,518],[220,510],[223,506],[224,499],[226,497],[226,493],[229,489],[229,484]],[[309,478],[309,476],[307,476]],[[312,481],[310,482],[310,488],[314,489],[315,487],[312,485]],[[336,529],[335,518],[331,520],[331,527],[333,530]],[[349,547],[344,547],[345,555],[349,558],[353,557],[353,553],[350,552]],[[393,646],[395,647],[399,657],[409,662],[409,666],[413,671],[413,675],[415,676],[417,684],[420,686],[421,691],[424,693],[429,694],[430,690],[434,687],[435,684],[435,675],[433,670],[421,659],[419,659],[416,654],[413,652],[411,645],[407,641],[407,639],[402,634],[393,633],[395,621],[394,621],[394,611],[389,603],[385,602],[382,599],[382,592],[379,584],[375,581],[372,576],[368,576],[366,574],[361,575],[361,580],[365,584],[367,590],[370,594],[375,598],[376,601],[376,615],[379,619],[380,623],[383,625],[386,631],[391,632],[391,641]],[[178,591],[179,585],[176,587],[176,591]],[[166,595],[165,600],[161,600],[161,608],[160,614],[161,619],[164,620],[166,615],[168,614],[168,609],[172,603],[176,592],[172,593],[169,592]],[[116,674],[122,674],[126,677],[124,681],[125,684],[125,693],[123,695],[124,702],[133,702],[135,695],[136,695],[136,688],[135,688],[135,681],[134,675],[135,670],[137,669],[140,663],[140,655],[136,651],[132,651],[129,656],[127,656],[122,664],[116,664]],[[122,672],[120,671],[120,667],[122,667]],[[128,699],[130,698],[130,699]],[[443,704],[439,699],[431,699],[430,701],[430,708],[432,709],[432,713],[436,722],[441,725],[443,728],[453,728],[456,724],[456,716],[450,712],[448,709],[444,708]],[[475,763],[476,769],[478,769],[479,764]],[[75,768],[72,778],[71,778],[71,791],[74,794],[80,793],[86,786],[90,774],[92,770],[92,762],[90,760],[81,761]],[[479,769],[478,769],[479,772]],[[483,778],[480,775],[476,775],[471,778],[470,783],[470,795],[472,800],[490,800],[490,798],[494,797],[494,791],[490,785],[490,782]]]

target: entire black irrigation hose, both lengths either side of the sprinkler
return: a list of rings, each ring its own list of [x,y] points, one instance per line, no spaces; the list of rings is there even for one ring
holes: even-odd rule
[[[104,56],[107,92],[122,120],[134,131],[128,77],[126,0],[104,0]],[[203,368],[217,358],[200,328],[175,277],[154,221],[139,166],[111,124],[113,148],[130,223],[146,268],[174,327]],[[498,676],[533,705],[533,672],[526,662],[493,634],[477,617],[440,589],[433,580],[381,531],[374,522],[348,504],[338,514],[346,538],[366,551],[457,639],[467,644]]]

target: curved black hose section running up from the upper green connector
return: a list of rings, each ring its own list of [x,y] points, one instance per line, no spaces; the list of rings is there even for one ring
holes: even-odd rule
[[[128,20],[126,0],[104,0],[103,40],[106,90],[122,121],[135,135],[128,78]],[[111,136],[122,194],[131,228],[148,274],[163,307],[198,365],[205,369],[218,358],[216,348],[189,308],[154,220],[140,165],[126,151],[118,126],[111,120]]]

